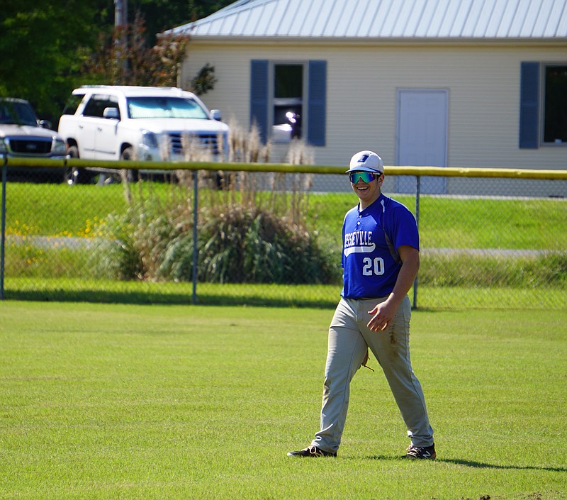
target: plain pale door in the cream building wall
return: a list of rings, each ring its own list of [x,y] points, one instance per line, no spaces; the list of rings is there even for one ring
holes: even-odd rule
[[[447,89],[398,89],[397,165],[447,167]],[[395,191],[415,193],[415,177],[395,177]],[[422,193],[445,194],[444,177],[422,177]]]

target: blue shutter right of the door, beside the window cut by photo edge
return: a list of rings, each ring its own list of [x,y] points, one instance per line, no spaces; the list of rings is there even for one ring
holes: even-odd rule
[[[520,148],[539,147],[539,62],[520,69]]]

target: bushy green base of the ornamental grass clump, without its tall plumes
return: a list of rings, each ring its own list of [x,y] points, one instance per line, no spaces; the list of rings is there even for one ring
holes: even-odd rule
[[[99,246],[101,274],[120,279],[190,281],[193,209],[154,200],[109,217]],[[259,206],[203,207],[198,224],[198,279],[219,283],[330,283],[332,257],[317,234]],[[335,279],[336,281],[336,279]]]

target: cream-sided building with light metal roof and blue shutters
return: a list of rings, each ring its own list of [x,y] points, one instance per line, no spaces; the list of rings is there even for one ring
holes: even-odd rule
[[[181,86],[213,65],[203,100],[264,138],[296,111],[318,165],[567,169],[566,0],[240,0],[172,32]]]

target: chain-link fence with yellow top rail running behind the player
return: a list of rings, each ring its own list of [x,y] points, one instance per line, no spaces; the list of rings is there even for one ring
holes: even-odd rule
[[[340,167],[160,172],[131,162],[68,185],[64,168],[48,167],[47,179],[12,165],[2,169],[4,299],[332,307],[339,298],[342,219],[357,204]],[[449,195],[428,194],[432,170],[386,167],[383,189],[418,219],[414,306],[565,308],[567,172],[449,169],[437,175]]]

